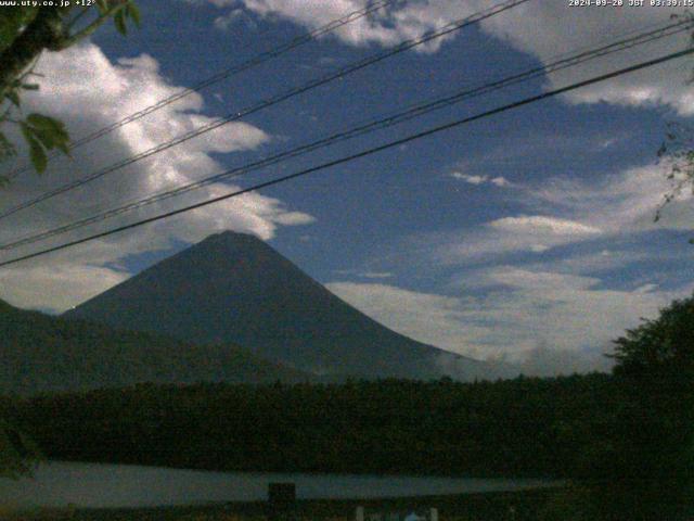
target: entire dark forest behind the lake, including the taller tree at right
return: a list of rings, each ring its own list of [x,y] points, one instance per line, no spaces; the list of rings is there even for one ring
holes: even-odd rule
[[[8,396],[0,412],[50,459],[557,478],[570,484],[576,519],[679,519],[663,516],[692,513],[692,323],[694,297],[627,331],[615,341],[612,374],[141,383]]]

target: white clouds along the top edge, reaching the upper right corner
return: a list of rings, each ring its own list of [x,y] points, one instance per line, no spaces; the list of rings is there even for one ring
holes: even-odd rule
[[[231,3],[210,0],[222,7]],[[304,0],[240,0],[245,9],[258,16],[277,16],[314,29],[347,13],[363,9],[367,0],[332,0],[306,2]],[[335,31],[337,38],[348,45],[396,45],[417,37],[447,23],[488,9],[481,0],[420,0],[381,10],[374,15],[347,24]],[[556,56],[576,50],[597,47],[617,36],[633,35],[635,29],[653,28],[666,23],[674,9],[652,8],[571,8],[568,2],[538,0],[493,16],[481,23],[488,34],[503,39],[515,49],[549,63]],[[420,51],[433,52],[448,36],[435,40]],[[599,74],[631,65],[647,58],[655,58],[684,49],[689,34],[663,39],[645,47],[621,51],[579,67],[553,74],[548,86],[560,87]],[[679,113],[694,114],[694,91],[686,85],[690,69],[685,62],[674,61],[651,69],[632,73],[591,87],[574,91],[565,99],[574,103],[608,102],[631,106],[667,104]]]

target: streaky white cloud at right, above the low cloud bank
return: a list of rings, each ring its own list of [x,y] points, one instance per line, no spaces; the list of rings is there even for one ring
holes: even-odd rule
[[[543,253],[557,246],[652,230],[691,230],[694,195],[683,191],[659,221],[656,209],[668,191],[668,166],[648,165],[605,176],[603,180],[553,177],[516,186],[509,196],[535,215],[501,217],[459,232],[425,239],[427,252],[445,264],[517,252]],[[604,262],[604,259],[603,259]]]

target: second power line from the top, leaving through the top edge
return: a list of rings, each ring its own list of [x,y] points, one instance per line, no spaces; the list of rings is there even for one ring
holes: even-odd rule
[[[399,54],[401,52],[404,52],[409,49],[412,49],[414,47],[421,46],[423,43],[426,43],[428,41],[432,41],[436,38],[440,38],[442,36],[446,36],[448,34],[451,34],[453,31],[460,30],[464,27],[467,27],[470,25],[473,24],[477,24],[484,20],[487,20],[491,16],[494,16],[497,14],[500,14],[504,11],[507,11],[510,9],[513,9],[517,5],[520,5],[525,2],[528,2],[529,0],[506,0],[504,2],[501,2],[490,9],[487,9],[485,11],[479,11],[473,15],[466,16],[464,18],[460,18],[454,22],[451,22],[445,26],[442,26],[441,28],[434,30],[434,31],[429,31],[426,33],[425,35],[419,37],[419,38],[413,38],[410,40],[406,40],[403,42],[401,42],[400,45],[390,48],[388,50],[386,50],[385,52],[381,52],[381,53],[376,53],[374,55],[368,56],[363,60],[360,60],[356,63],[349,64],[345,67],[342,67],[339,69],[337,69],[336,72],[330,73],[326,76],[320,77],[318,79],[313,79],[311,81],[309,81],[308,84],[304,84],[300,87],[295,87],[293,89],[290,89],[288,91],[285,91],[281,94],[274,96],[273,98],[270,98],[269,100],[259,102],[255,105],[252,105],[250,107],[244,109],[240,112],[235,112],[235,113],[231,113],[224,117],[215,119],[214,122],[204,125],[203,127],[195,129],[193,131],[190,131],[188,134],[184,134],[183,136],[179,136],[178,138],[175,138],[170,141],[166,141],[164,143],[160,143],[156,147],[153,147],[152,149],[149,149],[144,152],[141,152],[134,156],[128,157],[124,161],[120,161],[118,163],[115,163],[104,169],[98,170],[95,173],[92,173],[90,175],[88,175],[87,177],[83,177],[81,179],[78,179],[76,181],[73,182],[68,182],[66,185],[63,185],[61,187],[57,187],[53,190],[49,190],[48,192],[42,193],[41,195],[38,195],[35,199],[31,199],[29,201],[26,201],[24,203],[21,203],[16,206],[13,206],[2,213],[0,213],[0,219],[3,219],[5,217],[9,217],[11,215],[16,214],[17,212],[21,212],[22,209],[26,209],[29,208],[31,206],[37,205],[38,203],[41,203],[43,201],[47,201],[49,199],[52,199],[56,195],[60,195],[62,193],[65,193],[67,191],[74,190],[76,188],[82,187],[95,179],[99,179],[107,174],[111,174],[113,171],[116,171],[120,168],[124,168],[126,166],[129,166],[133,163],[137,163],[141,160],[144,160],[146,157],[150,157],[154,154],[157,154],[159,152],[164,152],[165,150],[168,150],[172,147],[176,147],[178,144],[181,144],[192,138],[195,138],[197,136],[201,136],[202,134],[208,132],[210,130],[214,130],[216,128],[221,127],[222,125],[227,125],[228,123],[241,119],[242,117],[245,117],[247,115],[254,114],[256,112],[259,112],[264,109],[267,109],[268,106],[272,106],[275,105],[282,101],[285,101],[290,98],[294,98],[295,96],[298,96],[300,93],[304,93],[306,91],[309,91],[311,89],[314,89],[317,87],[320,87],[322,85],[329,84],[335,79],[342,78],[348,74],[355,73],[359,69],[362,69],[369,65],[372,65],[374,63],[381,62],[387,58],[394,56],[396,54]]]

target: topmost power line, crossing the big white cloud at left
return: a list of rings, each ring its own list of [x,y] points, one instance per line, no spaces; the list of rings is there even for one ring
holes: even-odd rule
[[[296,38],[293,38],[284,43],[282,43],[281,46],[271,49],[269,51],[265,51],[261,52],[259,54],[256,54],[255,56],[239,63],[236,65],[232,65],[231,67],[228,67],[223,71],[220,71],[219,73],[214,74],[213,76],[209,76],[205,79],[203,79],[202,81],[197,82],[196,85],[194,85],[193,87],[187,88],[187,89],[182,89],[179,92],[176,92],[175,94],[169,96],[168,98],[163,98],[162,100],[157,101],[156,103],[152,104],[152,105],[147,105],[144,109],[132,113],[126,117],[124,117],[123,119],[119,119],[117,122],[112,123],[111,125],[107,125],[99,130],[93,131],[92,134],[89,134],[87,136],[83,136],[82,138],[74,141],[73,143],[70,143],[69,145],[69,150],[75,150],[83,144],[87,144],[95,139],[99,139],[103,136],[106,136],[107,134],[113,132],[114,130],[124,127],[126,125],[128,125],[129,123],[132,122],[137,122],[138,119],[146,116],[147,114],[152,114],[153,112],[158,111],[159,109],[163,109],[171,103],[175,103],[178,100],[181,100],[190,94],[192,94],[193,92],[200,92],[203,89],[206,89],[207,87],[215,85],[223,79],[227,79],[231,76],[234,76],[236,74],[240,74],[242,72],[248,71],[253,67],[256,67],[269,60],[272,60],[274,58],[278,58],[293,49],[296,49],[297,47],[300,47],[305,43],[311,42],[313,40],[317,40],[318,38],[320,38],[323,35],[326,35],[329,33],[332,33],[340,27],[344,27],[347,24],[350,24],[352,22],[356,22],[360,18],[363,18],[364,16],[370,15],[371,13],[374,13],[376,11],[380,11],[384,8],[387,8],[388,5],[397,2],[398,0],[381,0],[377,2],[374,2],[363,9],[360,9],[358,11],[352,11],[349,14],[346,14],[345,16],[337,18],[337,20],[333,20],[332,22],[329,22],[327,24],[308,33],[307,35],[301,35],[298,36]],[[246,48],[250,47],[248,46],[244,46],[241,50],[244,50]],[[51,154],[49,156],[49,161],[55,158],[56,156],[60,156],[61,154],[59,153],[54,153]],[[10,174],[8,174],[7,177],[10,178],[14,178],[16,176],[18,176],[20,174],[23,174],[27,170],[29,170],[31,168],[30,165],[25,165],[24,167],[17,168],[15,170],[12,170]]]

